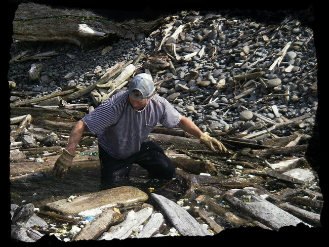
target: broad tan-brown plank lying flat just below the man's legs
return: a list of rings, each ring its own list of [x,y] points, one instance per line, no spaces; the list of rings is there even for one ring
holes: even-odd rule
[[[63,214],[79,214],[91,209],[110,209],[119,205],[144,202],[147,199],[145,192],[131,186],[122,186],[79,196],[70,202],[67,199],[51,202],[46,204],[46,207]]]

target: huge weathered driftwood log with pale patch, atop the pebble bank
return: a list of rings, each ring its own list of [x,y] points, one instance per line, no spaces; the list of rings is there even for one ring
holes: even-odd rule
[[[119,38],[148,33],[165,18],[115,22],[111,16],[84,9],[22,3],[13,21],[13,39],[24,42],[67,42],[84,49]],[[113,19],[113,16],[112,18]]]

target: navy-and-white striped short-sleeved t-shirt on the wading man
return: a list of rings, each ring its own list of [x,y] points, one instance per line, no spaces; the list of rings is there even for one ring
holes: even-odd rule
[[[116,158],[127,158],[139,151],[143,141],[157,125],[175,128],[180,113],[163,97],[153,95],[140,111],[129,102],[129,92],[122,91],[105,100],[83,117],[98,144]]]

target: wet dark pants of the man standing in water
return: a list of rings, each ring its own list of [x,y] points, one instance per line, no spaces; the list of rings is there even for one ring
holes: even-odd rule
[[[98,148],[102,180],[127,178],[134,163],[144,168],[151,178],[172,178],[175,175],[174,164],[162,147],[153,141],[143,142],[139,152],[125,159],[114,158],[102,147]]]

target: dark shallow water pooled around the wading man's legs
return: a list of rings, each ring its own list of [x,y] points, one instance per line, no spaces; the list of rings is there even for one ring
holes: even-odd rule
[[[45,204],[70,197],[83,195],[119,186],[134,186],[145,193],[156,192],[166,194],[169,198],[179,199],[183,190],[181,182],[148,178],[143,168],[134,165],[127,179],[116,183],[101,181],[99,166],[88,168],[73,167],[63,179],[56,178],[52,173],[34,173],[11,181],[11,203],[24,205],[32,203],[35,208],[43,208]]]

